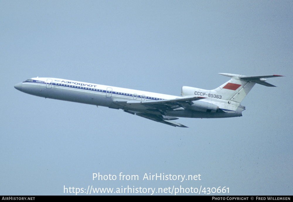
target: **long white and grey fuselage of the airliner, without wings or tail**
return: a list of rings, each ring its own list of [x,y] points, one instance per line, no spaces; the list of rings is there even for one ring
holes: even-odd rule
[[[56,78],[32,78],[26,80],[25,82],[16,84],[15,88],[22,92],[45,98],[105,106],[127,111],[138,111],[142,113],[146,112],[145,108],[131,108],[131,106],[125,108],[115,104],[115,101],[132,100],[143,102],[183,98],[180,96]],[[165,115],[188,118],[224,118],[242,116],[242,111],[243,108],[240,108],[239,111],[235,111],[234,113],[207,113],[185,108],[183,110],[169,111]]]

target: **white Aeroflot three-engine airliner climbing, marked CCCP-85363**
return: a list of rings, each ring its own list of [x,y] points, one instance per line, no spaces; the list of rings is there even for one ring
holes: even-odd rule
[[[122,109],[160,123],[188,128],[173,120],[242,116],[245,107],[240,103],[256,83],[276,87],[265,78],[282,77],[219,74],[231,79],[214,90],[182,86],[181,97],[56,78],[31,78],[14,87],[35,96]]]

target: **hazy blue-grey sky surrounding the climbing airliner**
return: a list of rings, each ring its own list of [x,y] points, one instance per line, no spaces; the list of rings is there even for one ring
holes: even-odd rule
[[[292,195],[292,10],[293,1],[0,1],[0,195],[64,186]],[[229,80],[217,73],[286,77],[256,84],[242,117],[177,120],[189,128],[13,87],[38,76],[179,96]],[[117,180],[93,181],[98,172]]]

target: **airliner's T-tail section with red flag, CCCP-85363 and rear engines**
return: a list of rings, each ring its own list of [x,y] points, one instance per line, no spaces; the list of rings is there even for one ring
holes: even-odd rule
[[[228,113],[215,113],[213,118],[242,116],[241,112],[245,107],[241,106],[240,103],[255,84],[275,87],[274,85],[267,83],[265,78],[282,77],[280,75],[243,76],[240,74],[219,74],[231,77],[231,79],[214,90],[205,90],[188,86],[183,86],[181,89],[182,96],[195,95],[205,97],[205,99],[194,101],[192,109],[197,111],[207,111],[207,109],[209,109],[210,112],[223,111]],[[203,108],[202,106],[207,107]],[[210,116],[207,117],[210,118]]]

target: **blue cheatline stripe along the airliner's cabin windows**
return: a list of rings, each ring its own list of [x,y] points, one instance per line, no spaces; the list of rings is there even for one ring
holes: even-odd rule
[[[45,85],[48,84],[47,82],[33,80],[33,79],[28,79],[28,80],[24,81],[23,83],[36,83],[36,84],[45,84]],[[101,89],[96,89],[96,88],[89,88],[89,87],[83,87],[83,86],[74,86],[74,85],[60,84],[60,83],[54,83],[54,82],[52,82],[52,85],[54,85],[54,86],[62,86],[62,87],[72,88],[72,89],[86,90],[86,91],[102,92],[102,93],[110,93],[111,92],[111,91],[106,91],[106,90],[101,90]],[[127,96],[127,97],[132,97],[132,98],[134,97],[134,94],[122,93],[122,92],[116,92],[116,91],[112,91],[112,94],[121,95],[121,96]],[[137,98],[143,98],[142,95],[137,95],[136,97]],[[144,99],[164,100],[162,98],[149,97],[149,96],[145,96],[145,95],[144,95]]]

